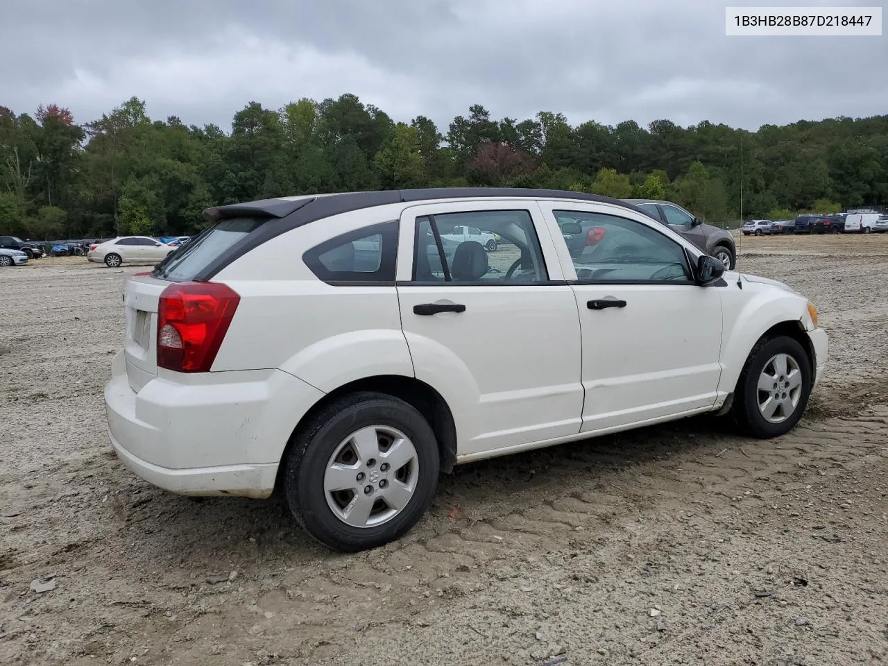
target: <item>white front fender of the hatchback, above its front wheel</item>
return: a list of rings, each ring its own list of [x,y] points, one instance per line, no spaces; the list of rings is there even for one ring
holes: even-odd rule
[[[722,303],[723,370],[718,392],[724,395],[733,392],[749,353],[768,329],[785,321],[805,329],[808,304],[805,297],[785,289],[749,281],[743,282],[743,289],[726,291]]]

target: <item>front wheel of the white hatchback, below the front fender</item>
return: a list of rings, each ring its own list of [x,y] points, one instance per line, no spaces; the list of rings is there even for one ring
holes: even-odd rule
[[[779,366],[772,364],[774,359],[783,358],[789,372],[778,375]],[[792,366],[795,365],[795,368]],[[798,372],[798,384],[793,381],[793,372]],[[776,376],[778,385],[776,411],[771,418],[765,416],[769,406],[773,407],[774,395],[770,379],[767,389],[759,389],[759,378]],[[785,380],[780,379],[785,377]],[[789,383],[789,388],[786,384]],[[787,389],[781,392],[781,389]],[[811,396],[811,361],[796,340],[789,336],[772,337],[760,340],[749,353],[746,363],[734,389],[734,417],[741,429],[754,437],[767,440],[786,434],[796,427],[805,413],[808,398]],[[788,413],[789,412],[789,413]],[[775,420],[780,419],[780,420]]]

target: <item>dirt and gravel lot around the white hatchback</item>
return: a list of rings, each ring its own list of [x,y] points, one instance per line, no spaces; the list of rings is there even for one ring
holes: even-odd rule
[[[888,235],[743,238],[740,267],[829,330],[795,432],[699,418],[467,465],[349,556],[116,462],[102,387],[139,269],[0,269],[0,662],[888,661]]]

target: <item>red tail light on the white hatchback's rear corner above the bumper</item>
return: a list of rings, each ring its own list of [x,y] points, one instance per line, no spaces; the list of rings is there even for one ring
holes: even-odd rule
[[[177,282],[157,305],[157,365],[210,372],[241,297],[218,282]]]

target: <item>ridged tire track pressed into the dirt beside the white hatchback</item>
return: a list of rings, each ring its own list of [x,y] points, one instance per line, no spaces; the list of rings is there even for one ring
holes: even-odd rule
[[[888,416],[888,409],[879,408],[876,414]],[[822,430],[815,430],[821,425]],[[492,586],[511,587],[514,594],[527,595],[535,589],[533,570],[538,563],[560,561],[557,568],[562,577],[582,580],[583,562],[589,558],[626,561],[632,555],[627,544],[645,532],[646,520],[662,511],[664,501],[680,500],[688,524],[693,524],[696,511],[711,514],[735,511],[741,505],[760,506],[762,488],[758,492],[749,488],[761,486],[762,481],[765,493],[781,488],[781,496],[786,496],[793,492],[789,482],[799,470],[829,467],[836,460],[843,465],[866,464],[868,456],[882,461],[888,456],[884,444],[888,425],[881,417],[805,424],[773,441],[698,439],[698,448],[683,448],[665,460],[638,464],[626,463],[627,448],[606,456],[600,450],[587,454],[569,445],[577,450],[564,456],[564,464],[537,472],[545,480],[537,480],[533,489],[511,494],[509,502],[481,498],[472,511],[484,515],[483,519],[449,519],[439,506],[400,543],[337,558],[334,565],[314,571],[297,566],[274,580],[258,577],[254,606],[273,613],[274,622],[260,614],[255,641],[248,638],[245,647],[259,649],[297,627],[297,633],[305,632],[308,643],[300,648],[301,657],[290,657],[330,658],[324,656],[326,643],[341,641],[343,633],[357,625],[362,630],[384,624],[391,628],[392,623],[411,626],[417,609]],[[590,441],[585,446],[595,444]],[[604,466],[606,471],[584,472],[589,465]],[[522,503],[532,505],[502,509]],[[702,562],[711,557],[704,551],[699,556]],[[208,596],[213,595],[204,599]],[[225,609],[213,613],[225,614]],[[193,634],[193,623],[202,617],[197,614],[184,622],[176,634]],[[153,620],[149,617],[145,622]],[[203,623],[201,627],[225,644],[224,634]],[[309,638],[314,641],[310,649],[306,647]]]

